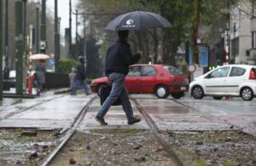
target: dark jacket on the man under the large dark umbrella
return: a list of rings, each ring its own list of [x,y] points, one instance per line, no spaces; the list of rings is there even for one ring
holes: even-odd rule
[[[129,66],[137,63],[139,59],[139,53],[132,56],[130,45],[126,41],[117,41],[109,47],[106,55],[106,76],[111,73],[122,73],[127,75],[129,72]]]

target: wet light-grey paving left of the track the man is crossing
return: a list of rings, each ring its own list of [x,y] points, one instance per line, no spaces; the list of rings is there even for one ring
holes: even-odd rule
[[[2,118],[20,109],[27,109],[3,119],[0,121],[0,127],[67,128],[92,97],[94,95],[88,97],[85,95],[50,95],[26,100],[0,112],[0,118]],[[36,106],[33,107],[33,105]]]

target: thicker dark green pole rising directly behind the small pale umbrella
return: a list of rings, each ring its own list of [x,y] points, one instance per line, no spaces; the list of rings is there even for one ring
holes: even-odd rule
[[[42,0],[40,52],[46,53],[46,0]]]

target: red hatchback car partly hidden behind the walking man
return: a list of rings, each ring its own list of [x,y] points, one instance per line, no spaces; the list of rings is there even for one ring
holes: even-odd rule
[[[125,83],[129,93],[155,93],[158,98],[167,98],[169,94],[173,98],[181,98],[189,87],[189,81],[181,71],[166,65],[132,65]],[[100,89],[107,84],[107,77],[94,79],[92,92],[99,95]]]

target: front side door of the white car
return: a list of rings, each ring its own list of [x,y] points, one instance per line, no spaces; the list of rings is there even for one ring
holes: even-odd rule
[[[229,74],[230,67],[225,66],[218,68],[215,71],[209,73],[203,79],[205,84],[205,93],[209,95],[221,95],[228,93],[226,89],[226,79]]]

